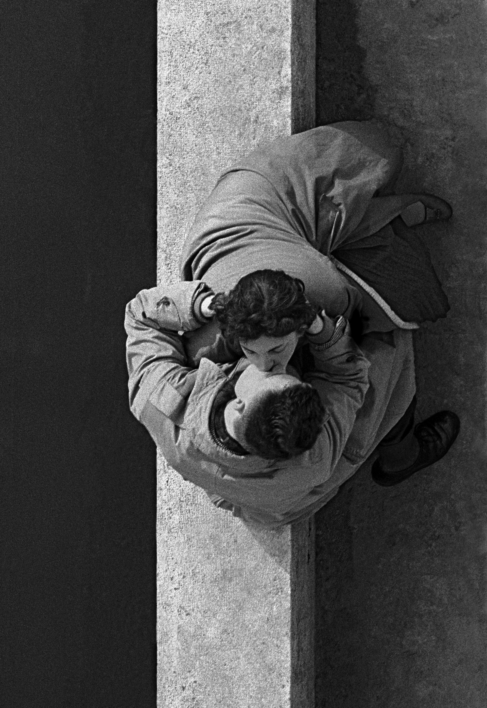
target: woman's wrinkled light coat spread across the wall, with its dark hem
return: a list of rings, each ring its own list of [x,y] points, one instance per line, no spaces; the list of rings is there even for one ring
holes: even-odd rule
[[[334,256],[389,304],[391,329],[445,316],[447,298],[421,240],[411,229],[387,228],[417,201],[390,193],[400,168],[399,150],[368,122],[335,123],[259,147],[223,173],[196,215],[182,279],[221,292],[253,270],[281,269],[303,280],[315,307],[350,316],[360,290]]]

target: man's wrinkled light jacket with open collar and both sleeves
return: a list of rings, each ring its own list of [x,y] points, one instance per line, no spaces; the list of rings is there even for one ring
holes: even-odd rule
[[[127,305],[131,411],[168,464],[205,489],[216,506],[269,528],[306,518],[359,469],[409,405],[415,391],[411,333],[395,330],[390,344],[365,336],[358,348],[347,331],[316,352],[313,370],[303,372],[328,414],[315,445],[287,460],[240,456],[218,445],[210,421],[219,392],[249,361],[218,365],[202,357],[193,368],[180,334],[199,330],[193,308],[205,288],[199,281],[162,284]]]

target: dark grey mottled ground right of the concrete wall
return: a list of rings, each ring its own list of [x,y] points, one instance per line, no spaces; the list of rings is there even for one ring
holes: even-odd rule
[[[483,2],[318,0],[318,122],[385,122],[398,188],[452,204],[422,232],[452,309],[416,335],[417,418],[462,421],[433,468],[363,471],[317,515],[319,707],[487,704],[486,24]]]

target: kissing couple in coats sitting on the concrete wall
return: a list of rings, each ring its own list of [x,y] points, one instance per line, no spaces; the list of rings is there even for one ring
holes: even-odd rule
[[[366,122],[260,147],[196,215],[182,280],[127,305],[131,411],[244,520],[315,513],[372,454],[399,484],[457,437],[450,411],[415,425],[411,336],[449,309],[415,227],[452,212],[392,193],[400,169]]]

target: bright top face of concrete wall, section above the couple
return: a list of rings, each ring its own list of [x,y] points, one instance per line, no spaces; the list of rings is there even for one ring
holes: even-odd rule
[[[291,3],[162,0],[158,18],[158,274],[177,280],[221,171],[291,132]]]

